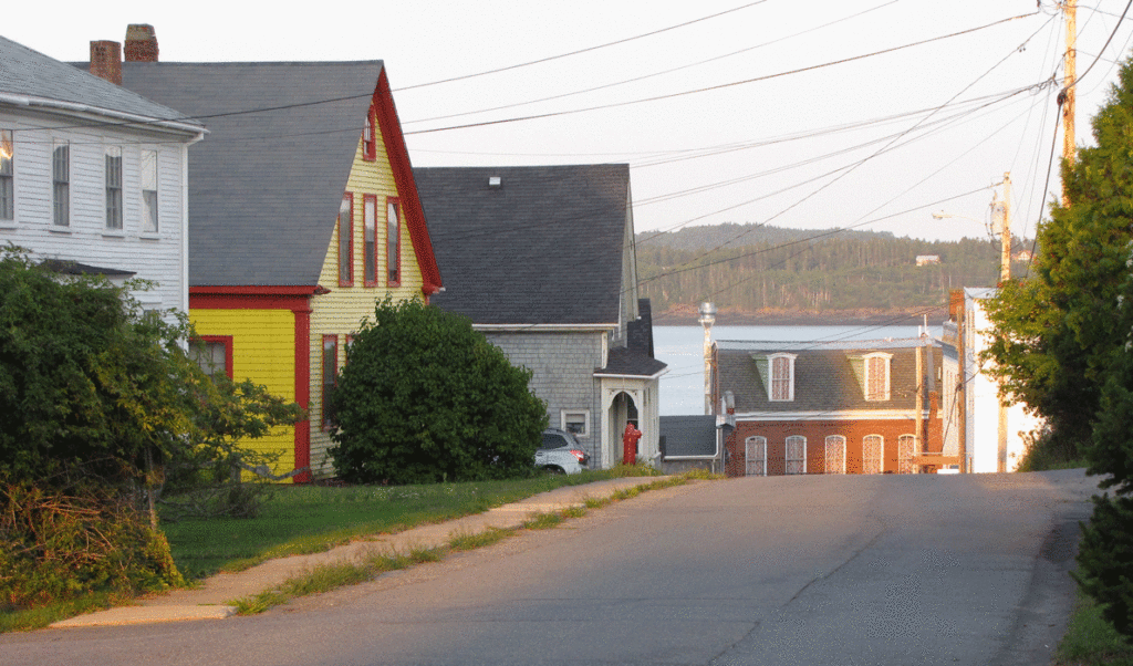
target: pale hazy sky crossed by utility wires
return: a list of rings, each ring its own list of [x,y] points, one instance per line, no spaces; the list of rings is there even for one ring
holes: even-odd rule
[[[1133,0],[1079,1],[1081,146]],[[1051,0],[65,0],[6,8],[0,34],[84,61],[131,23],[169,62],[383,60],[415,166],[629,163],[638,232],[988,238],[1010,172],[1013,233],[1033,238],[1060,188]]]

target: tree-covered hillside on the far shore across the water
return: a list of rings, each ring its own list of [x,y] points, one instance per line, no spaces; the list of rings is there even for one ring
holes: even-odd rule
[[[939,262],[918,266],[926,255]],[[637,258],[642,296],[654,313],[670,316],[688,315],[704,300],[740,315],[927,311],[943,307],[949,289],[990,287],[999,278],[999,245],[991,239],[926,241],[761,224],[639,233]]]

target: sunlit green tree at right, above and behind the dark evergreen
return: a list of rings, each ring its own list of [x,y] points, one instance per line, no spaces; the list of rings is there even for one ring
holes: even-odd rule
[[[1032,275],[988,301],[996,342],[989,357],[1012,394],[1050,426],[1048,445],[1074,460],[1091,439],[1101,386],[1124,348],[1116,316],[1133,219],[1133,71],[1093,119],[1096,147],[1064,164],[1068,206],[1039,224]]]

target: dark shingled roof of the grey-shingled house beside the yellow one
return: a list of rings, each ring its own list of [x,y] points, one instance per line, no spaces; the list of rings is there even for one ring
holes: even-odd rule
[[[474,324],[617,325],[628,164],[414,173],[444,266],[432,302]]]

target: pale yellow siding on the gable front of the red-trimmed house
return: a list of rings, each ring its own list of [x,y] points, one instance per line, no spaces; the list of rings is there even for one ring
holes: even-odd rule
[[[347,182],[347,191],[353,193],[353,287],[339,287],[339,236],[338,225],[331,237],[323,262],[318,283],[331,290],[330,293],[313,299],[310,315],[310,467],[315,478],[333,473],[326,450],[332,446],[330,436],[320,427],[323,415],[322,396],[322,358],[323,335],[338,335],[339,359],[341,368],[346,361],[346,335],[357,331],[359,323],[366,317],[373,317],[374,305],[387,294],[394,300],[402,300],[421,293],[421,272],[417,265],[417,255],[409,238],[406,223],[404,202],[401,210],[401,285],[385,287],[386,262],[385,253],[378,251],[377,276],[375,287],[364,287],[365,259],[365,220],[364,195],[377,197],[377,220],[375,224],[375,242],[378,248],[385,248],[386,197],[400,196],[393,180],[393,171],[386,160],[385,145],[381,133],[377,134],[377,160],[363,160],[363,145],[359,137],[355,153],[353,168]]]

